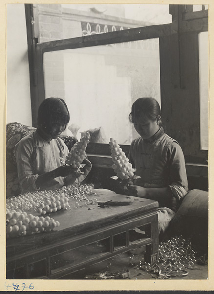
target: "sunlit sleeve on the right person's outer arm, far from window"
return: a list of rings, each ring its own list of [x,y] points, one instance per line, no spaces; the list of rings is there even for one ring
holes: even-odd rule
[[[169,162],[169,190],[179,201],[188,191],[184,154],[179,144],[173,142],[167,150]]]

